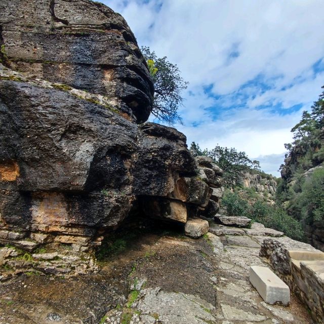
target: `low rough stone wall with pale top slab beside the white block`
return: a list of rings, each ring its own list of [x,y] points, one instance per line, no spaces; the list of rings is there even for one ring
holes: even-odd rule
[[[306,248],[308,245],[304,245]],[[310,246],[309,246],[310,247]],[[324,253],[309,250],[291,250],[285,243],[265,239],[260,256],[266,257],[275,272],[311,310],[318,324],[324,323]]]

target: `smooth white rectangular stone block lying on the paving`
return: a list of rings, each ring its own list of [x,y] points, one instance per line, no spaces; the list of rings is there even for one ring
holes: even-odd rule
[[[289,287],[269,268],[250,267],[250,282],[266,303],[289,305]]]

